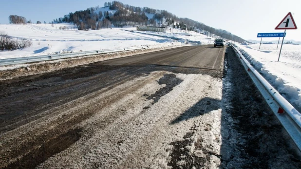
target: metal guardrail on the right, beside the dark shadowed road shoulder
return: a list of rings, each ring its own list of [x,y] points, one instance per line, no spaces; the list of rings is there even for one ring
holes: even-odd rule
[[[243,63],[246,72],[263,95],[266,103],[301,151],[301,114],[251,66],[233,44],[231,46]]]

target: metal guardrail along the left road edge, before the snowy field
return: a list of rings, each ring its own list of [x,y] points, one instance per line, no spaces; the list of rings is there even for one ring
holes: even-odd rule
[[[148,48],[148,46],[140,46],[140,47],[129,47],[129,48],[121,48],[121,49],[118,48],[118,49],[77,52],[77,53],[8,58],[8,59],[0,59],[0,66],[8,66],[8,65],[14,65],[14,64],[32,63],[32,62],[40,62],[40,61],[49,61],[49,60],[57,60],[57,59],[64,59],[64,58],[77,57],[77,56],[89,56],[89,55],[97,55],[97,54],[106,54],[106,53],[112,53],[112,52],[132,51],[132,50],[147,49],[147,48]]]

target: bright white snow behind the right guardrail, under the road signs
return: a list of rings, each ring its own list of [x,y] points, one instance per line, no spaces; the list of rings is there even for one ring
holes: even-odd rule
[[[297,110],[301,110],[301,45],[236,44],[269,83],[277,89]]]

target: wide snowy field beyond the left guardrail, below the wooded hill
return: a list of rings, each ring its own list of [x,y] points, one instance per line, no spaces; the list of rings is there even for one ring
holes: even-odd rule
[[[65,30],[59,29],[66,27]],[[174,42],[191,44],[213,44],[207,37],[196,32],[183,32],[178,29],[167,33],[136,31],[136,27],[108,28],[101,30],[79,31],[71,24],[0,24],[0,32],[16,39],[31,39],[29,48],[0,51],[0,59],[24,56],[51,55],[100,49],[114,49],[150,45],[168,46]]]

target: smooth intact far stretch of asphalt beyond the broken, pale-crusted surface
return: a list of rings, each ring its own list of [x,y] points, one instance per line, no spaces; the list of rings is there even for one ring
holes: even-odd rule
[[[224,49],[212,45],[187,46],[143,55],[107,60],[100,65],[106,66],[174,66],[221,70]]]

